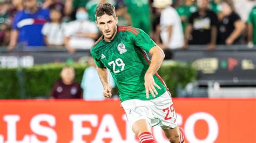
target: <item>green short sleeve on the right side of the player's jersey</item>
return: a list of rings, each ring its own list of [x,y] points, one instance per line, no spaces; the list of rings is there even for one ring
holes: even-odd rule
[[[134,39],[135,45],[149,52],[150,49],[157,44],[143,30],[138,30],[139,33]]]

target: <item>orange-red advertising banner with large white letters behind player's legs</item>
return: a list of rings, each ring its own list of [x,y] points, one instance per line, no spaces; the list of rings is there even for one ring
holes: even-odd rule
[[[256,142],[256,99],[173,99],[186,142]],[[153,127],[157,142],[168,142]],[[0,101],[0,143],[117,142],[138,138],[119,101]]]

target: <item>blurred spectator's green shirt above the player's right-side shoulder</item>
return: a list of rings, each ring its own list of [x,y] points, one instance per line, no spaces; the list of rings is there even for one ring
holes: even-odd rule
[[[147,34],[151,32],[150,9],[147,0],[124,0],[132,18],[132,26],[141,28]]]

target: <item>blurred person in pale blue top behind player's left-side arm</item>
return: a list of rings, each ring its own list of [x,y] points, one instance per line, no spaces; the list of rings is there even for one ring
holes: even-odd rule
[[[88,62],[90,67],[84,70],[83,80],[81,87],[84,90],[83,97],[86,100],[104,100],[104,89],[102,82],[100,82],[99,75],[97,73],[95,62],[92,57],[89,56]],[[115,87],[113,77],[109,73],[109,81],[112,88]],[[92,84],[93,83],[93,84]]]

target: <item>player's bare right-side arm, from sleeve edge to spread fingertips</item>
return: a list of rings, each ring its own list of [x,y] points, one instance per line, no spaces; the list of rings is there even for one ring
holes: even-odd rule
[[[161,63],[165,58],[163,50],[157,45],[153,46],[150,49],[149,53],[152,55],[151,63],[144,77],[147,98],[149,98],[149,92],[152,94],[153,97],[156,97],[156,95],[158,95],[158,92],[155,87],[157,87],[158,89],[160,89],[160,87],[154,82],[153,75],[157,73],[158,69],[161,66]]]

